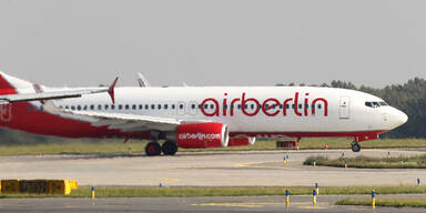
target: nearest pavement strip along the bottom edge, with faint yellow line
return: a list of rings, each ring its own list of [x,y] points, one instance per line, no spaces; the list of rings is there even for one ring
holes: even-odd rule
[[[404,196],[404,195],[402,195]],[[424,195],[410,195],[424,196]],[[0,212],[425,212],[425,209],[413,207],[376,207],[337,206],[337,200],[346,196],[318,196],[313,205],[312,196],[292,196],[290,206],[285,196],[242,196],[242,197],[155,197],[155,199],[3,199],[0,200]],[[359,197],[368,197],[366,195]],[[399,196],[392,196],[399,197]],[[379,197],[378,197],[379,199]]]

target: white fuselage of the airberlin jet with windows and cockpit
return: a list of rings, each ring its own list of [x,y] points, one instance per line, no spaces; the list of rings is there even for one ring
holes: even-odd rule
[[[242,105],[243,95],[248,100],[244,102],[246,106]],[[321,100],[314,102],[316,99]],[[54,102],[75,111],[209,120],[226,124],[231,133],[260,135],[388,131],[407,120],[403,112],[372,94],[313,87],[116,88],[115,104],[111,103],[108,94]],[[366,102],[377,104],[368,106]],[[275,108],[267,109],[266,105]]]

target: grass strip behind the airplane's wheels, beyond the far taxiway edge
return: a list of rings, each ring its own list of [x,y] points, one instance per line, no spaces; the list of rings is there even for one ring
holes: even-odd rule
[[[303,139],[300,149],[349,149],[349,139]],[[126,154],[129,148],[132,153],[144,153],[146,142],[130,140],[123,143],[122,140],[62,140],[58,143],[50,141],[42,144],[19,144],[0,145],[0,155],[22,155],[22,154]],[[426,139],[385,139],[366,141],[362,143],[363,149],[372,148],[426,148]],[[180,152],[200,151],[255,151],[255,150],[278,150],[275,141],[258,141],[250,146],[233,146],[219,149],[180,149]]]

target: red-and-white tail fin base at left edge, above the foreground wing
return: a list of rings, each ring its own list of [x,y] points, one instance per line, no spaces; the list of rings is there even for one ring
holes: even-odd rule
[[[33,91],[32,83],[14,77],[10,77],[0,71],[0,95],[18,94],[31,90]]]

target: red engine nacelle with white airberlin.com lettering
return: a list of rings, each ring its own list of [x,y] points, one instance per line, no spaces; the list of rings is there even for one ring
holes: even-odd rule
[[[191,123],[178,125],[176,142],[179,148],[221,148],[227,146],[227,126],[223,123]]]

